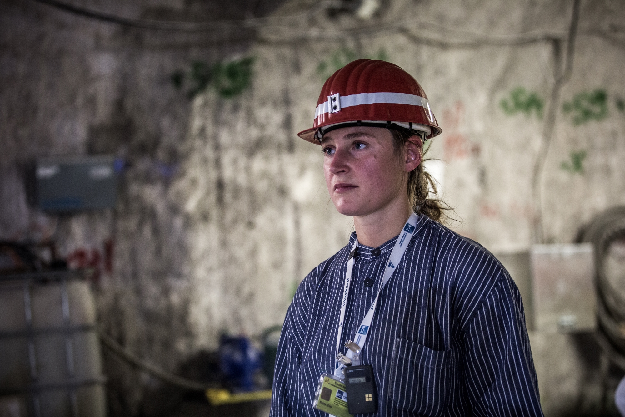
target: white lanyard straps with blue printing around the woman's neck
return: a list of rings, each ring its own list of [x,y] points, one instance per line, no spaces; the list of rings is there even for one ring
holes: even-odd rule
[[[367,311],[367,314],[362,319],[362,323],[360,327],[358,327],[358,331],[356,332],[356,336],[354,336],[354,343],[356,343],[361,351],[364,347],[364,343],[367,340],[367,336],[369,335],[369,330],[371,329],[371,321],[373,320],[373,314],[376,312],[377,306],[377,298],[380,296],[380,292],[386,285],[386,283],[391,279],[391,275],[394,272],[397,265],[399,265],[399,261],[401,260],[404,252],[406,252],[406,248],[412,238],[412,234],[416,229],[417,225],[417,215],[412,213],[404,225],[404,229],[402,229],[401,234],[397,237],[397,241],[395,242],[395,246],[392,249],[391,256],[389,257],[389,262],[384,269],[384,275],[382,275],[382,283],[380,284],[380,288],[377,291],[376,298],[373,300],[371,304],[371,308]],[[343,288],[343,298],[341,302],[341,316],[339,316],[339,331],[336,335],[336,354],[342,351],[341,349],[341,336],[343,332],[343,324],[345,320],[345,309],[347,307],[347,294],[349,294],[349,286],[351,285],[352,279],[352,270],[354,269],[354,254],[356,252],[356,247],[358,246],[358,239],[354,241],[354,245],[352,246],[351,251],[349,252],[349,259],[347,259],[347,272],[345,273],[345,286]],[[352,361],[352,364],[359,365],[360,364],[360,355],[355,354],[351,351],[351,349],[347,349],[347,354],[345,355]],[[339,378],[343,378],[343,368],[345,365],[339,361],[336,361],[336,368],[334,369],[334,376]]]

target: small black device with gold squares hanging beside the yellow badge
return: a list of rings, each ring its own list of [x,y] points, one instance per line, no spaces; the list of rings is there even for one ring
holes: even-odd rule
[[[344,369],[345,385],[349,394],[348,411],[351,414],[375,413],[376,388],[371,365],[350,366]]]

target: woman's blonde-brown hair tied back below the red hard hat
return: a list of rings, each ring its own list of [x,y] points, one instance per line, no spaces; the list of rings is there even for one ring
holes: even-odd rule
[[[414,136],[414,133],[407,131],[389,129],[393,138],[393,147],[396,151],[401,150],[406,142]],[[419,140],[419,153],[421,154],[421,163],[408,173],[408,201],[412,211],[416,214],[424,214],[435,222],[443,223],[449,219],[446,210],[451,210],[447,203],[442,202],[439,198],[428,198],[430,190],[436,194],[436,181],[434,178],[423,170],[423,142]]]

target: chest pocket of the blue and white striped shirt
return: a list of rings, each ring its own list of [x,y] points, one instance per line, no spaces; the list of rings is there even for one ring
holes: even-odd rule
[[[421,416],[436,417],[447,404],[451,350],[433,351],[422,344],[396,339],[389,373],[394,405]]]

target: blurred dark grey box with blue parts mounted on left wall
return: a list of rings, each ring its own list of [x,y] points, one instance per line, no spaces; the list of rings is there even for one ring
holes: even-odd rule
[[[114,207],[117,197],[113,157],[50,158],[37,161],[37,205],[74,211]]]

